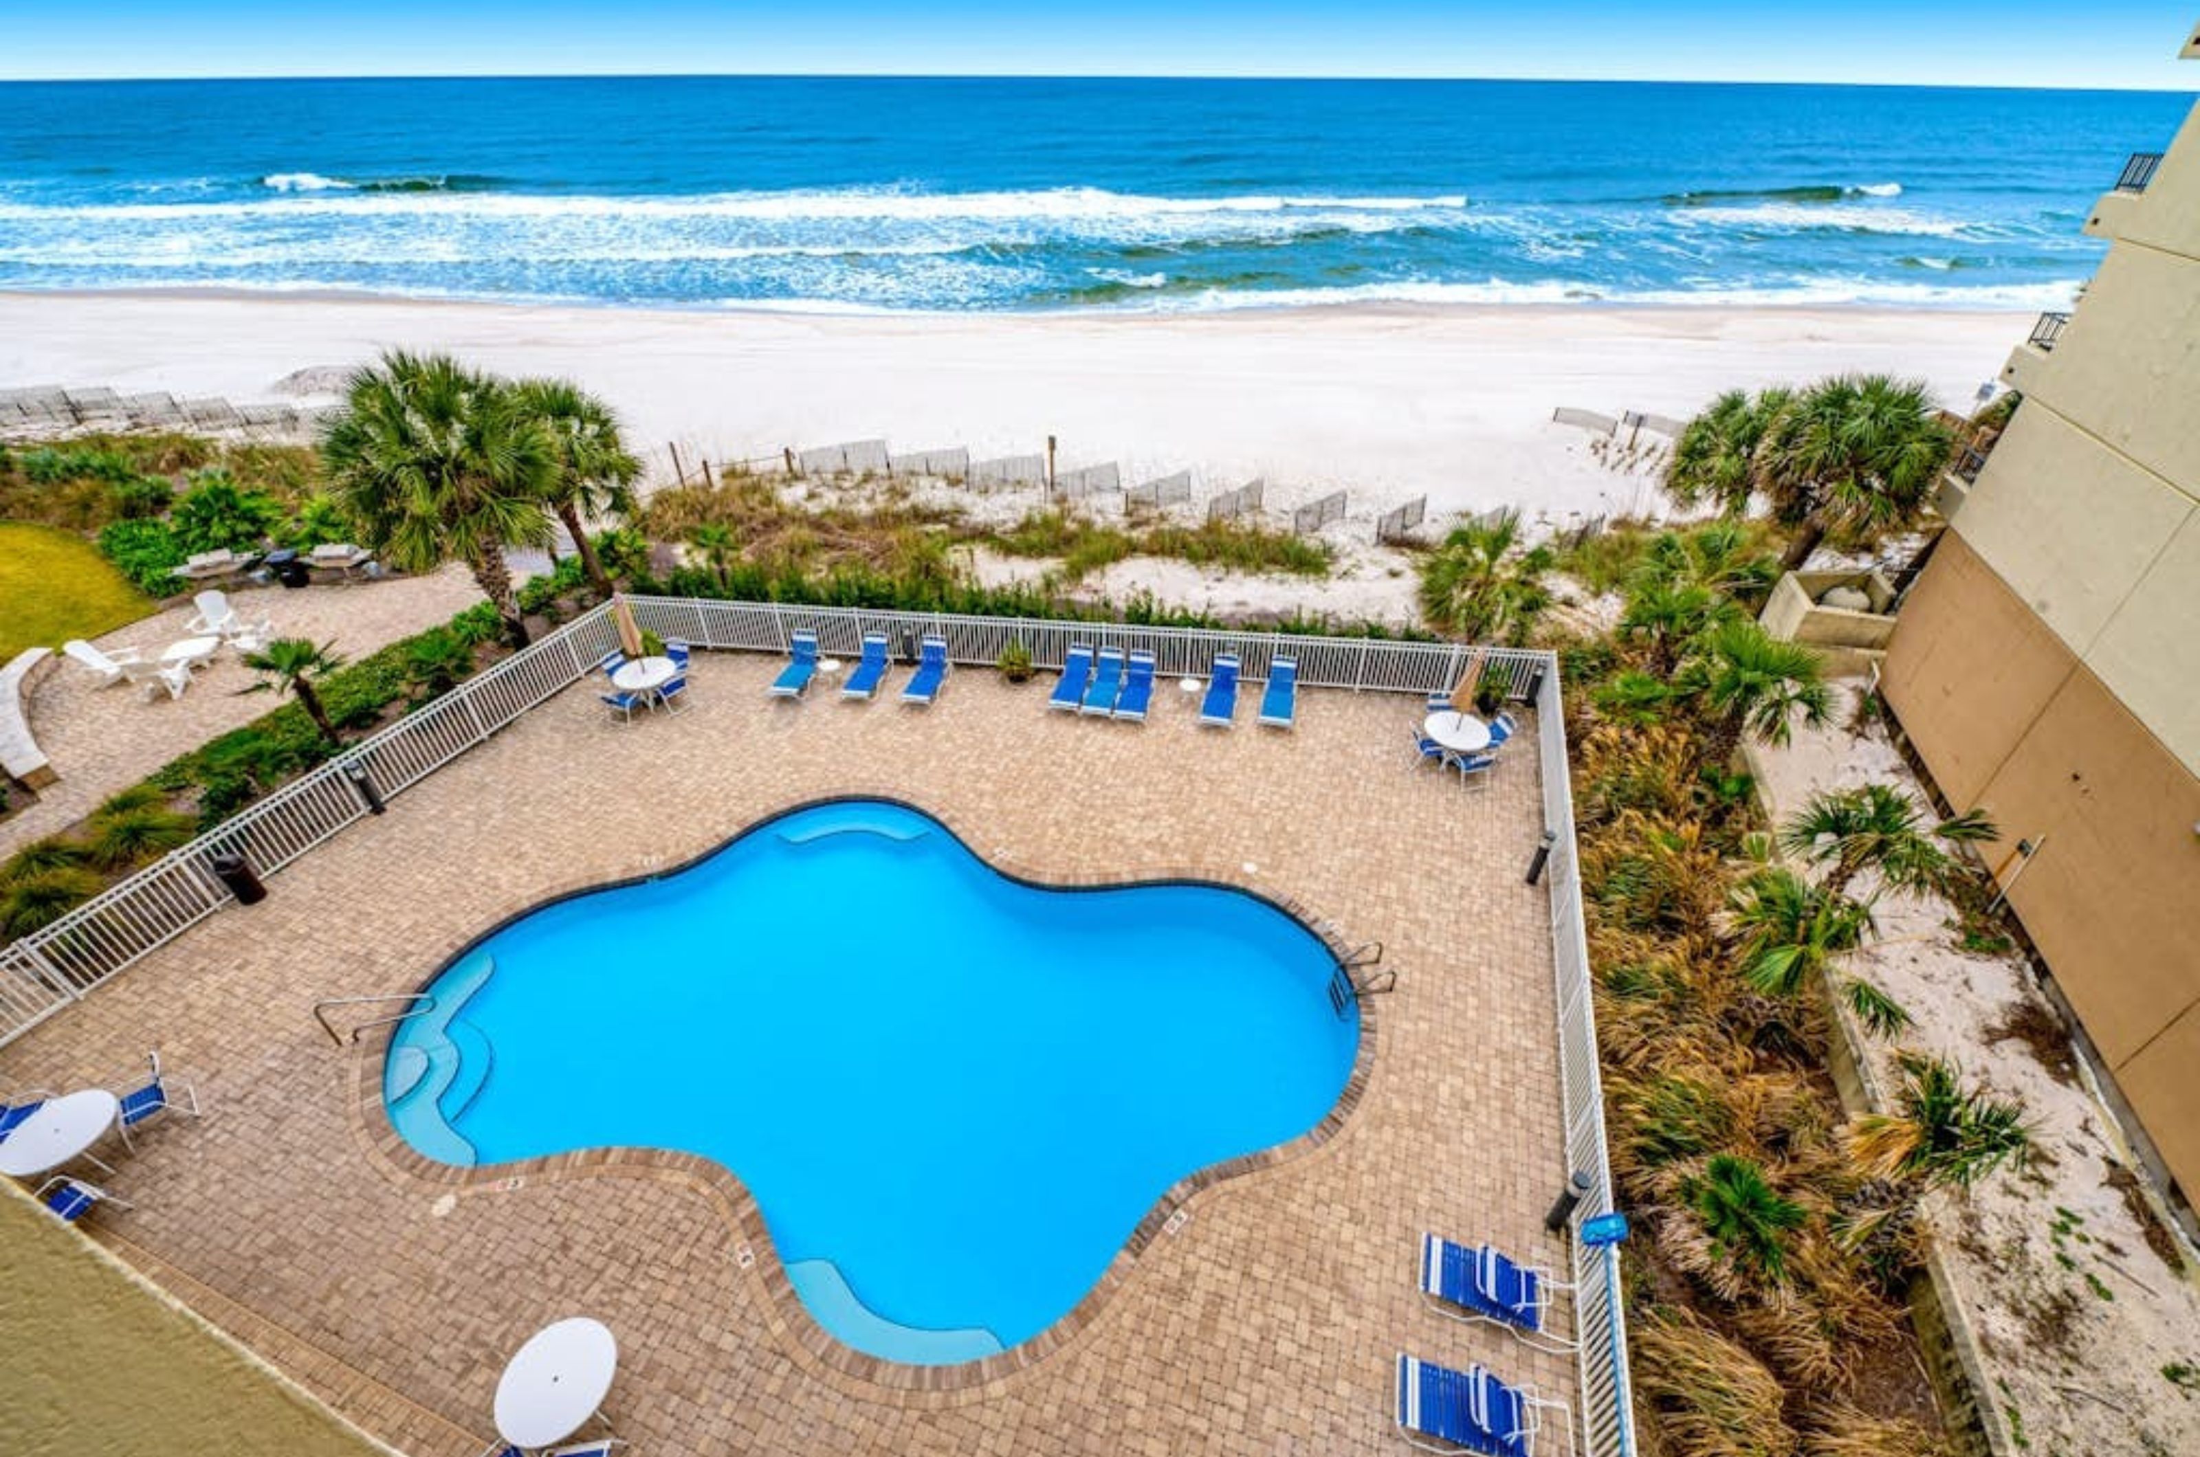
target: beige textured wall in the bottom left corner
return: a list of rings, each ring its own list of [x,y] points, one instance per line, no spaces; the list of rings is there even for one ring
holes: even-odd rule
[[[0,1180],[0,1433],[9,1453],[387,1457],[11,1180]]]

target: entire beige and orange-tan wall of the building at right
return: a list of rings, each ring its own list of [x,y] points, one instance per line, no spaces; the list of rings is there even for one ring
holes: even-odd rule
[[[2088,231],[2110,253],[2011,354],[2024,403],[1883,687],[1947,799],[2002,825],[2011,909],[2200,1199],[2200,108]]]

